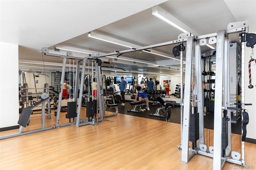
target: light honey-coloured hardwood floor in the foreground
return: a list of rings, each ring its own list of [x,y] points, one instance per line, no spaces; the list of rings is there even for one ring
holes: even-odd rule
[[[61,113],[60,123],[68,120],[65,114]],[[55,117],[47,118],[46,124],[54,125]],[[180,144],[180,124],[123,114],[106,119],[98,126],[70,125],[0,140],[0,169],[212,169],[212,158],[199,154],[187,164],[180,162],[181,150],[176,148]],[[40,120],[31,118],[28,127],[39,124],[40,128]],[[15,132],[18,129],[0,135]],[[205,129],[205,134],[209,146],[213,131]],[[240,151],[240,135],[232,134],[232,141],[232,149]],[[246,142],[245,147],[246,164],[256,168],[256,144]],[[223,169],[231,165],[226,162]]]

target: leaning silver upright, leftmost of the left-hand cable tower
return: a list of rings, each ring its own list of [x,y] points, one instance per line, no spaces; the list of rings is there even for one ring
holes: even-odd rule
[[[61,79],[60,79],[60,94],[59,94],[59,101],[58,101],[58,109],[57,109],[57,115],[56,115],[56,127],[59,125],[59,119],[60,119],[60,109],[61,109],[61,101],[62,101],[62,89],[63,89],[63,83],[65,78],[65,69],[66,69],[66,57],[63,57],[63,63],[62,63],[62,72],[61,72]]]

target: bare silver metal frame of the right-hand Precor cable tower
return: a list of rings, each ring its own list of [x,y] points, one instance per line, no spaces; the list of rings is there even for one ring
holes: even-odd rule
[[[242,159],[231,158],[231,118],[230,115],[230,91],[229,91],[229,56],[228,56],[228,34],[244,32],[248,27],[247,21],[230,23],[228,29],[220,30],[214,34],[204,36],[191,36],[186,44],[186,73],[184,90],[184,115],[182,125],[182,148],[181,162],[187,163],[195,154],[202,154],[213,158],[213,169],[221,169],[225,162],[232,162],[246,167],[244,160],[244,141],[242,141]],[[232,29],[231,29],[232,28]],[[195,41],[210,38],[216,42],[216,81],[215,81],[215,105],[214,105],[214,150],[210,146],[209,151],[204,144],[204,121],[203,121],[203,98],[202,98],[202,71],[200,58],[200,45],[205,45]],[[192,58],[195,54],[196,83],[197,83],[197,106],[199,113],[199,148],[189,147],[190,137],[190,85],[192,84]],[[244,42],[242,42],[242,108],[244,108]],[[192,109],[192,114],[194,109]],[[223,112],[226,112],[224,115]],[[227,118],[226,118],[227,116]],[[226,120],[227,119],[227,120]],[[226,123],[227,132],[223,132],[223,122]],[[226,136],[224,135],[226,133]],[[228,140],[225,145],[222,139]],[[232,152],[233,153],[233,152]],[[240,154],[238,154],[240,156]]]

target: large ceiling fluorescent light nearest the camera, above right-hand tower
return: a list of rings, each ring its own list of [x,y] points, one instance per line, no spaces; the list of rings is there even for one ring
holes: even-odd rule
[[[175,18],[174,16],[160,8],[159,6],[155,6],[152,8],[152,15],[163,20],[164,22],[167,22],[171,26],[174,26],[175,28],[184,33],[190,32],[194,35],[200,35],[198,32],[196,32],[195,30],[193,30],[192,28],[190,28],[189,26],[187,26],[186,24],[184,24],[183,22],[181,22],[180,20],[178,20],[177,18]]]

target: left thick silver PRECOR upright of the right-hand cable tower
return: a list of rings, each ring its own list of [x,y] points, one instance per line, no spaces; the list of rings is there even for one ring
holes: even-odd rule
[[[191,72],[192,72],[192,53],[194,36],[188,37],[186,45],[186,71],[184,89],[184,114],[182,125],[182,155],[181,162],[188,163],[189,156],[189,125],[190,125],[190,94],[191,94]]]

